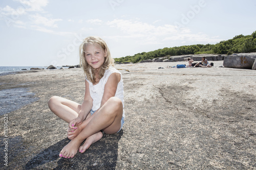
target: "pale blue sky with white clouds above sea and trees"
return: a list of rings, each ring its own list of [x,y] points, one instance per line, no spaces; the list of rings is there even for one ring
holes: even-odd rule
[[[79,64],[88,36],[113,58],[216,44],[256,31],[255,9],[255,0],[1,0],[0,66]]]

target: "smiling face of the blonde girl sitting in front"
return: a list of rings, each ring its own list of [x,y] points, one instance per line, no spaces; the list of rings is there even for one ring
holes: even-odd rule
[[[86,44],[84,50],[84,57],[86,57],[87,63],[95,69],[100,68],[106,57],[106,53],[102,47],[98,43]]]

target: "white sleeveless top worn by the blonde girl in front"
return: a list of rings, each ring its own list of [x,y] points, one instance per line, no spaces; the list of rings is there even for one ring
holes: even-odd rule
[[[121,79],[120,79],[119,83],[117,84],[117,89],[116,89],[115,96],[122,101],[123,108],[124,108],[124,99],[123,99],[124,91],[123,91],[122,74],[116,68],[114,68],[113,66],[110,66],[109,69],[107,69],[105,71],[104,76],[99,80],[99,83],[96,84],[96,85],[93,85],[93,83],[90,82],[86,77],[86,80],[89,83],[90,95],[91,95],[91,98],[93,99],[93,107],[92,107],[93,111],[96,111],[100,108],[101,100],[102,100],[103,93],[104,93],[105,84],[108,81],[110,75],[114,72],[117,72],[121,76]],[[123,117],[124,117],[124,110],[123,110]]]

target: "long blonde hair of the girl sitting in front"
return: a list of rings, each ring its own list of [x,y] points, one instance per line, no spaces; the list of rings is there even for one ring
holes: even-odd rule
[[[100,71],[99,71],[99,75],[98,75],[99,79],[101,79],[104,76],[105,70],[108,69],[109,66],[111,66],[111,65],[114,66],[114,61],[115,61],[111,57],[109,47],[106,45],[106,43],[103,39],[101,39],[100,37],[96,37],[96,36],[91,36],[91,37],[87,37],[87,38],[83,39],[83,41],[79,47],[80,66],[83,68],[84,76],[86,76],[86,78],[92,83],[96,83],[95,69],[93,67],[91,67],[86,61],[85,48],[86,48],[87,44],[93,45],[96,43],[100,45],[100,47],[106,54],[104,63],[100,67]]]

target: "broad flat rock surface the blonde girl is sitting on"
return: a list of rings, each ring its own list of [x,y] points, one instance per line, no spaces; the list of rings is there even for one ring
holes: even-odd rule
[[[104,134],[72,159],[58,157],[69,142],[68,125],[47,102],[58,95],[81,103],[82,69],[1,76],[1,102],[8,102],[6,91],[14,88],[29,89],[35,100],[5,114],[8,133],[1,116],[0,156],[4,160],[7,147],[8,166],[1,160],[0,168],[255,169],[255,70],[219,67],[223,61],[214,61],[212,68],[169,67],[177,64],[187,62],[115,65],[124,81],[123,129]],[[24,102],[28,95],[18,98]]]

